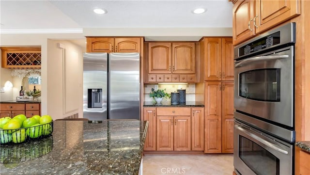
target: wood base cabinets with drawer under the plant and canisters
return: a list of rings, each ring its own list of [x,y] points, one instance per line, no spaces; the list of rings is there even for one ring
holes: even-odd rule
[[[145,107],[145,151],[203,151],[203,107]]]

